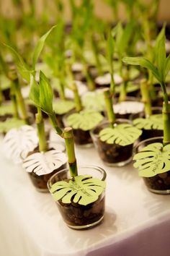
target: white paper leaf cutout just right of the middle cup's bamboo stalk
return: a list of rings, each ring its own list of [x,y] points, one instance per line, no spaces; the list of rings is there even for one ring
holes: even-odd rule
[[[122,101],[113,106],[115,114],[140,113],[144,110],[144,104],[138,101]]]

